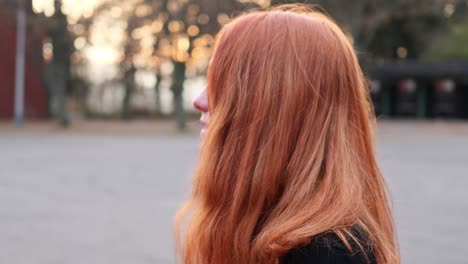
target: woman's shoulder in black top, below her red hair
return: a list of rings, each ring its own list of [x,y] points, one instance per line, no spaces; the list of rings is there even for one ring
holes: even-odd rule
[[[359,238],[362,240],[361,238]],[[348,250],[343,241],[334,233],[319,235],[306,245],[290,250],[281,264],[376,264],[370,246],[364,244],[361,249],[357,243],[349,241],[352,250]],[[367,243],[368,244],[368,243]]]

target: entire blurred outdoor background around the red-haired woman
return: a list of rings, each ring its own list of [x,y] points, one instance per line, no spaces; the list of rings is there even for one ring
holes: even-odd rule
[[[294,2],[0,0],[0,263],[174,263],[216,33]],[[467,263],[468,1],[300,2],[356,47],[403,263]]]

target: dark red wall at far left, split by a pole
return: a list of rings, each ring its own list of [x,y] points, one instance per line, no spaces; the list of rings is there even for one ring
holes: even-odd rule
[[[27,40],[25,117],[45,118],[47,115],[47,90],[41,79],[40,65],[33,54],[31,36]],[[35,49],[40,50],[40,49]],[[12,118],[15,94],[16,18],[0,10],[0,118]],[[37,53],[37,51],[36,51]]]

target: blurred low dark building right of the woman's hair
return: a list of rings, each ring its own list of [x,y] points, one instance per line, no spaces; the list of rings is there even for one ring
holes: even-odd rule
[[[395,63],[366,71],[379,116],[468,119],[468,63]]]

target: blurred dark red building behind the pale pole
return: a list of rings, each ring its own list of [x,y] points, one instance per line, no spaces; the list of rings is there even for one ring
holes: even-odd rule
[[[47,89],[42,74],[42,37],[31,1],[26,1],[28,28],[26,40],[25,117],[47,116]],[[0,0],[0,118],[12,118],[15,96],[16,0]]]

